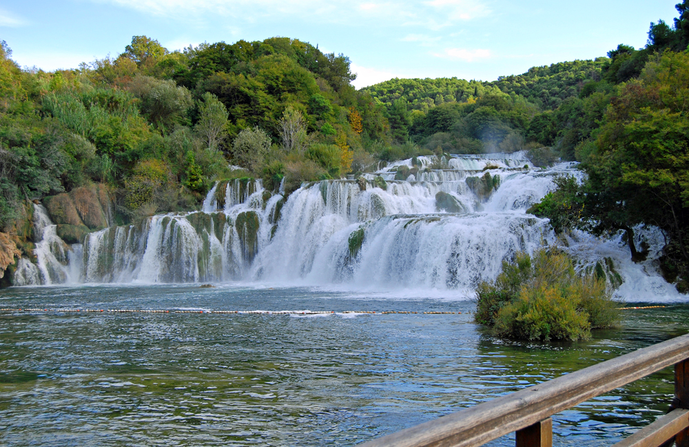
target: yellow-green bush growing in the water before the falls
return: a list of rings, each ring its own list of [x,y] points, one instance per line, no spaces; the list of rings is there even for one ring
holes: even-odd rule
[[[519,252],[503,261],[495,281],[477,288],[475,321],[496,337],[528,340],[588,339],[590,330],[619,321],[617,303],[605,281],[579,276],[559,250]]]

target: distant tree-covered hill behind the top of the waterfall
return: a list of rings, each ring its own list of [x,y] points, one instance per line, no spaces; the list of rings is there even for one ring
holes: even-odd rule
[[[398,143],[472,153],[520,150],[531,142],[573,160],[574,147],[588,137],[604,108],[598,101],[590,110],[581,98],[605,95],[612,87],[600,82],[606,63],[604,57],[554,63],[495,82],[391,79],[363,90],[384,106]]]

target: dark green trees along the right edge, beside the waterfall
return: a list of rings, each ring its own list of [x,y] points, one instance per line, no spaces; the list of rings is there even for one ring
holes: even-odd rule
[[[563,103],[551,115],[542,115],[551,137],[560,127],[566,137],[571,135],[569,141],[579,141],[567,147],[587,176],[582,184],[559,179],[559,188],[530,212],[550,218],[556,232],[624,232],[637,261],[648,252],[643,241],[635,241],[635,228],[659,228],[666,239],[661,272],[686,293],[689,4],[678,4],[677,11],[673,28],[663,21],[651,23],[646,48],[620,45],[610,51],[601,80],[585,85],[573,107],[566,110]],[[545,140],[548,132],[539,138]]]

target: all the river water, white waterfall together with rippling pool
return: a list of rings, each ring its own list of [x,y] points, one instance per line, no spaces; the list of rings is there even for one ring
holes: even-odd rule
[[[638,229],[650,255],[635,264],[619,235],[557,238],[526,213],[562,174],[581,177],[517,153],[419,157],[288,199],[236,179],[200,212],[72,246],[36,205],[35,259],[12,277],[24,287],[0,290],[0,309],[43,309],[0,310],[0,444],[353,446],[686,333],[657,230]],[[624,310],[591,341],[490,337],[473,323],[475,285],[544,245],[600,264],[621,302],[666,307]],[[333,313],[176,313],[189,310]],[[556,441],[611,444],[671,395],[671,371],[657,373],[556,415]]]

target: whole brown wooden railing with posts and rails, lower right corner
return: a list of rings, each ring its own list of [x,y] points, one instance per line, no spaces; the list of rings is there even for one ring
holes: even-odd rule
[[[575,373],[373,439],[359,447],[475,447],[511,432],[517,447],[551,447],[551,416],[675,365],[670,413],[613,447],[689,447],[689,335],[603,361]],[[670,404],[670,402],[668,402]]]

